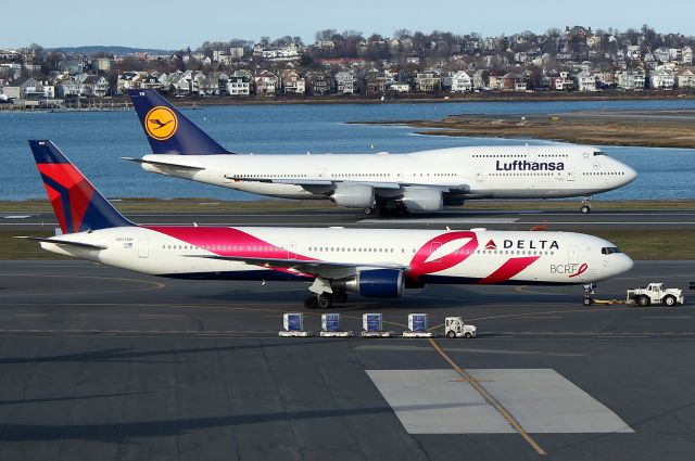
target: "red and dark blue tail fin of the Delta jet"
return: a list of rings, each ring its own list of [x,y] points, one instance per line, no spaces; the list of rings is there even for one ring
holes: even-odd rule
[[[63,233],[135,226],[48,140],[29,141]]]

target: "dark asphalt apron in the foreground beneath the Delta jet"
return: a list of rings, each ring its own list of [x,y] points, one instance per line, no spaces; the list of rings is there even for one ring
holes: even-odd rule
[[[695,261],[637,262],[599,297]],[[690,460],[692,307],[584,308],[581,287],[441,286],[336,311],[475,340],[279,338],[301,283],[0,262],[0,460]],[[317,331],[320,311],[305,324]],[[441,331],[441,329],[439,329]]]

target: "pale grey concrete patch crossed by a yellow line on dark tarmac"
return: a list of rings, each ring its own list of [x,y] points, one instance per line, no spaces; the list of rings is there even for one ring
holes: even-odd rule
[[[606,406],[549,369],[468,370],[529,433],[631,433]],[[410,434],[505,434],[509,422],[454,370],[367,370]]]

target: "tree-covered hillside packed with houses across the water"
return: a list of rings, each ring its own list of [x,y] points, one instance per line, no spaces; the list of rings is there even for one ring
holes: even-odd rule
[[[299,37],[235,39],[156,54],[0,50],[2,100],[103,99],[130,89],[218,98],[695,89],[693,38],[646,26],[626,33],[567,26],[498,37],[394,35],[324,30],[307,46]]]

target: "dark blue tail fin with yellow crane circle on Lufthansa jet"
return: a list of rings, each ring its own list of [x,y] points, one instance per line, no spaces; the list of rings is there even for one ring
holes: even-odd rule
[[[154,90],[128,90],[154,154],[230,154]]]

